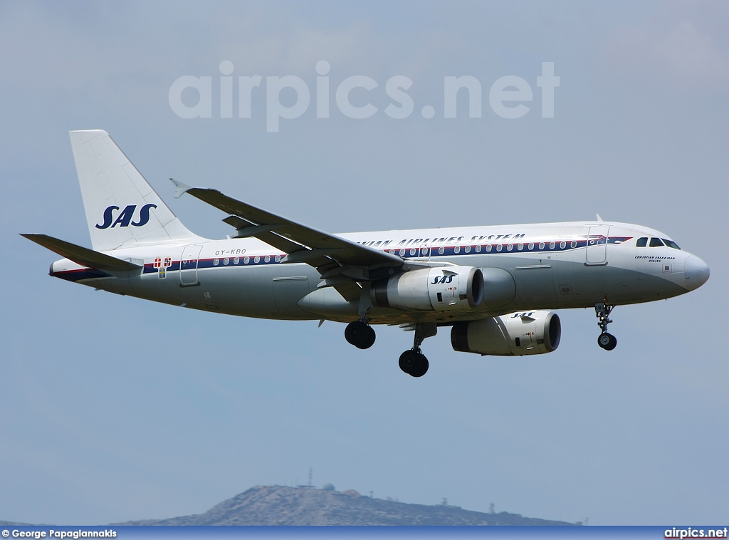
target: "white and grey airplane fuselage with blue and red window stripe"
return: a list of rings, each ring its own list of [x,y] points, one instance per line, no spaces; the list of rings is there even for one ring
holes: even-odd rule
[[[373,307],[372,323],[448,322],[527,309],[635,304],[693,290],[700,279],[686,271],[689,252],[636,247],[639,238],[668,236],[639,225],[607,222],[543,223],[413,231],[340,234],[399,255],[406,261],[501,269],[483,303],[459,312],[400,312]],[[112,250],[109,255],[144,265],[112,273],[84,269],[63,259],[51,274],[114,293],[244,317],[348,322],[359,301],[346,302],[332,288],[318,288],[319,272],[287,263],[286,253],[253,238],[197,239]],[[693,265],[694,267],[697,265]],[[702,282],[697,282],[696,287]],[[492,287],[493,288],[493,287]]]

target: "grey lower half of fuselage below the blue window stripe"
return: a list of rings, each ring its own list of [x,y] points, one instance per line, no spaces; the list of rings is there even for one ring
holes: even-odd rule
[[[586,266],[581,261],[494,255],[461,256],[458,263],[504,269],[513,279],[515,293],[500,305],[485,301],[477,309],[468,311],[418,312],[375,307],[368,312],[368,319],[375,324],[451,323],[531,309],[592,307],[602,301],[616,305],[636,304],[687,292],[677,283],[658,275],[610,264]],[[317,312],[302,309],[301,305],[308,304],[301,299],[316,291],[320,282],[316,269],[303,263],[200,269],[198,282],[193,286],[181,286],[177,271],[168,272],[165,279],[158,279],[157,274],[132,274],[126,278],[82,281],[84,285],[114,293],[229,315],[284,320],[356,320],[359,301],[347,303],[332,288],[327,288],[327,298],[335,299],[330,309]],[[486,282],[487,293],[488,287]]]

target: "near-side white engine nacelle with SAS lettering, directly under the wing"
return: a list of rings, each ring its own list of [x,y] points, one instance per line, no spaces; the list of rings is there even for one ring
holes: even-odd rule
[[[425,311],[473,309],[483,300],[483,274],[472,266],[411,270],[374,282],[373,306]]]

